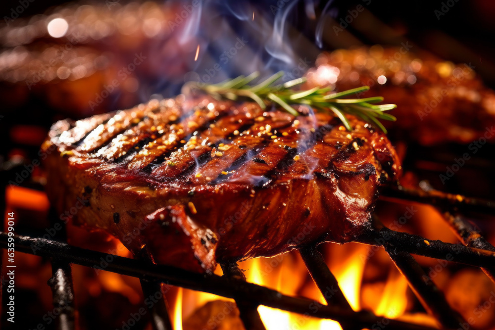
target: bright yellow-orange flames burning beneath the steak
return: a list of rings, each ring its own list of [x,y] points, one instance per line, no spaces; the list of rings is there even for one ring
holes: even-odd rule
[[[326,255],[326,263],[332,273],[337,278],[339,285],[349,301],[354,311],[362,310],[362,306],[370,308],[376,315],[391,319],[414,320],[417,323],[424,323],[434,326],[433,319],[423,313],[408,314],[410,302],[408,302],[407,281],[394,268],[389,269],[389,273],[381,283],[363,283],[363,275],[367,263],[373,258],[364,260],[363,256],[368,253],[369,247],[366,245],[349,243],[346,245],[325,244],[321,246],[321,251]],[[307,276],[307,270],[300,256],[295,252],[289,252],[272,258],[255,258],[241,262],[241,269],[245,269],[247,281],[263,285],[284,294],[292,296],[304,296],[312,299],[313,304],[308,306],[306,315],[299,315],[266,306],[259,306],[258,312],[267,330],[342,330],[341,325],[333,320],[321,320],[311,316],[318,310],[319,306],[326,305],[322,293],[318,290],[311,278]],[[215,272],[221,275],[220,268]],[[377,284],[379,284],[377,286]],[[373,288],[372,288],[373,287]],[[184,297],[184,299],[183,299]],[[331,300],[331,298],[330,298]],[[208,315],[204,318],[208,303],[223,301],[220,312]],[[186,319],[196,318],[195,315],[203,315],[204,329],[215,329],[211,326],[222,323],[222,327],[234,327],[235,322],[240,322],[238,317],[234,317],[232,311],[227,306],[232,299],[219,297],[198,291],[184,289],[184,295],[178,294],[175,300],[174,316],[175,325],[179,323],[179,311],[183,311],[182,317]],[[193,306],[191,306],[191,304]],[[181,305],[181,306],[179,306]],[[187,306],[187,308],[186,308]],[[183,309],[185,308],[185,309]],[[198,312],[201,311],[202,312]],[[187,326],[174,328],[192,330]]]

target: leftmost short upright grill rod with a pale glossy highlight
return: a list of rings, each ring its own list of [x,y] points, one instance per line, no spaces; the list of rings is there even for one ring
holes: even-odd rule
[[[51,228],[57,229],[53,239],[67,242],[65,223],[59,220],[59,216],[53,208],[49,211],[49,218],[52,219],[50,221]],[[52,277],[48,284],[53,296],[53,307],[60,310],[55,321],[55,327],[57,330],[74,330],[76,329],[76,309],[74,307],[74,287],[70,262],[53,258],[51,274]]]

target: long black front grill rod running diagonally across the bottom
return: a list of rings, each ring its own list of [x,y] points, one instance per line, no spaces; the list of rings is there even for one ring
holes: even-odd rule
[[[8,236],[5,233],[0,232],[1,248],[6,248],[7,238]],[[314,303],[310,299],[287,296],[278,291],[253,283],[235,279],[224,279],[216,275],[197,274],[171,266],[149,265],[141,260],[83,249],[51,239],[15,236],[14,242],[18,252],[35,254],[40,257],[58,258],[64,261],[70,261],[73,264],[93,268],[99,267],[101,258],[104,260],[111,258],[113,262],[109,263],[105,268],[109,272],[168,282],[170,285],[182,286],[232,299],[242,298],[260,305],[278,308],[288,312],[298,314],[308,313],[310,311],[308,306]],[[39,250],[33,250],[31,248],[33,244],[38,244],[41,248]],[[435,330],[435,328],[428,326],[378,317],[369,312],[350,313],[339,306],[321,306],[311,316],[332,319],[337,322],[351,321],[357,326],[369,329],[377,325],[387,324],[387,329],[389,330]]]

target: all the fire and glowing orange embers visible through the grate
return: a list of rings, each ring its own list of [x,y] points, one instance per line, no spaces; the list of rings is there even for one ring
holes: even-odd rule
[[[43,218],[47,205],[37,203],[33,207],[32,204],[25,204],[24,200],[28,194],[32,195],[31,199],[45,198],[42,193],[35,190],[11,188],[7,190],[7,207],[18,214],[29,213]],[[443,221],[443,215],[432,206],[382,201],[376,213],[391,228],[396,225],[406,231],[427,237],[438,237],[445,242],[456,241],[456,237]],[[95,239],[95,233],[89,234],[72,226],[68,228],[68,234],[68,240],[72,245],[131,257],[122,243],[113,237],[99,234],[98,239]],[[93,243],[89,245],[89,242]],[[437,327],[435,318],[421,307],[406,278],[394,267],[382,248],[358,243],[344,245],[327,243],[320,245],[319,250],[335,275],[352,310],[370,310],[375,315],[383,317],[378,319],[376,327],[372,329],[385,328],[390,322],[389,319]],[[18,279],[18,285],[23,289],[37,292],[40,299],[43,299],[42,305],[50,310],[52,307],[50,307],[49,287],[43,285],[44,281],[36,281],[30,275],[36,272],[49,277],[49,263],[42,262],[36,256],[22,254],[20,256],[18,265],[23,275]],[[109,324],[111,327],[128,329],[134,324],[146,324],[150,317],[148,308],[165,297],[175,330],[245,329],[234,299],[177,288],[167,283],[151,294],[143,293],[138,279],[104,270],[112,261],[101,259],[94,270],[76,265],[72,270],[74,292],[79,306],[85,306],[92,301],[112,299],[113,307],[107,307],[110,313],[108,315],[115,313],[116,310],[125,309],[126,312],[122,311],[118,314],[118,321],[115,319]],[[448,261],[425,257],[418,257],[418,261],[427,270],[427,278],[423,280],[436,283],[445,292],[448,303],[454,306],[466,320],[472,321],[474,329],[488,329],[494,324],[495,314],[489,305],[493,304],[495,286],[481,270],[458,267]],[[267,330],[342,329],[341,324],[336,321],[322,320],[314,316],[322,306],[326,305],[325,298],[331,301],[337,294],[338,288],[329,285],[324,291],[320,291],[296,251],[272,258],[247,260],[239,263],[239,267],[245,270],[247,282],[263,285],[289,296],[310,299],[305,314],[259,306],[257,310]],[[218,267],[215,274],[221,276],[222,269]],[[85,319],[88,316],[86,313],[93,312],[92,309],[82,308],[80,318]]]

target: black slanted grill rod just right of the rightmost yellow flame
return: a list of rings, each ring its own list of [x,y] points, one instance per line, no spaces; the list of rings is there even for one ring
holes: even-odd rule
[[[373,225],[383,228],[380,220],[373,216]],[[397,269],[406,278],[409,286],[419,299],[423,307],[432,314],[446,329],[457,329],[465,321],[459,313],[452,310],[448,305],[444,293],[426,275],[417,261],[406,251],[397,247],[391,241],[383,244]]]

